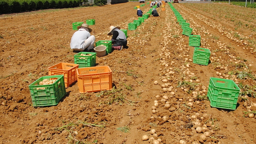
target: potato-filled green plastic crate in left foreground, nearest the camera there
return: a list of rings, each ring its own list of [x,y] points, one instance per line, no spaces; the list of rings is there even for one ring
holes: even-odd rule
[[[54,80],[53,84],[39,85],[44,79]],[[42,76],[28,86],[33,106],[54,106],[66,95],[64,75]]]

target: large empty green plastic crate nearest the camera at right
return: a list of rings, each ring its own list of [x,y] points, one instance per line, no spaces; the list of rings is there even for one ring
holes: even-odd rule
[[[210,78],[207,96],[212,107],[236,110],[239,92],[233,80]]]

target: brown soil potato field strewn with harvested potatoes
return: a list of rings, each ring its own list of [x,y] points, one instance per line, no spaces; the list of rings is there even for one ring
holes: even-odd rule
[[[150,5],[143,4],[145,14]],[[128,30],[139,5],[0,15],[0,143],[255,144],[255,8],[166,3],[156,8],[159,17]],[[180,16],[200,36],[198,47],[210,52],[209,63],[194,62]],[[95,42],[111,40],[112,25],[128,30],[128,47],[96,57],[96,67],[112,70],[112,90],[81,94],[74,82],[58,104],[33,106],[29,85],[48,76],[50,66],[74,64],[72,23],[88,19],[95,20]],[[213,83],[222,89],[212,91]]]

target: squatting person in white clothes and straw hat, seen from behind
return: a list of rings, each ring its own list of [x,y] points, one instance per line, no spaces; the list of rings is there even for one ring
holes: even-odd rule
[[[92,29],[88,27],[88,24],[82,24],[77,26],[76,31],[70,42],[70,48],[75,51],[86,51],[92,50],[94,47],[95,36],[91,36],[90,32]]]

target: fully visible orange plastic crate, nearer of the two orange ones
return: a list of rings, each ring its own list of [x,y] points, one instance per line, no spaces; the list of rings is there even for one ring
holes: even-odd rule
[[[76,71],[80,93],[112,90],[112,70],[109,66],[78,68]]]

